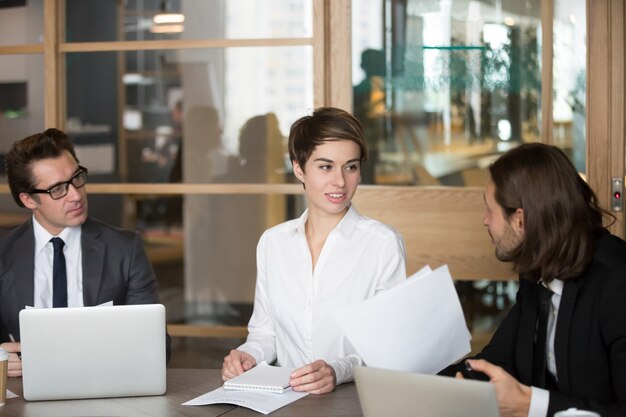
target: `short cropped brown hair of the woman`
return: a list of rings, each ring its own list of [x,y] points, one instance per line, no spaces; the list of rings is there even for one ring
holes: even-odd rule
[[[311,154],[327,141],[349,140],[357,144],[361,163],[367,159],[365,134],[359,121],[347,111],[335,107],[320,107],[291,125],[289,159],[298,162],[304,171]]]

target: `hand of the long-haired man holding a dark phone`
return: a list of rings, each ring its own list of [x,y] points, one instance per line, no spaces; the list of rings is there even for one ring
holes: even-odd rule
[[[468,360],[473,370],[489,377],[496,390],[496,400],[501,417],[527,417],[530,408],[531,389],[520,384],[504,369],[482,359]],[[457,375],[457,378],[459,375]]]

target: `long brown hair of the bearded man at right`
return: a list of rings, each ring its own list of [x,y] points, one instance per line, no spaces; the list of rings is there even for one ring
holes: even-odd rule
[[[524,210],[524,240],[512,253],[523,278],[550,282],[580,276],[595,251],[605,216],[593,190],[559,148],[529,143],[489,168],[505,215]]]

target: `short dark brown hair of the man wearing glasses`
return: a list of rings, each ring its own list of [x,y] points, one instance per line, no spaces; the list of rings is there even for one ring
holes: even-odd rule
[[[54,128],[13,142],[11,150],[5,157],[5,163],[11,195],[18,206],[24,207],[20,194],[31,192],[36,185],[32,163],[42,159],[58,158],[63,151],[68,151],[78,162],[70,138]]]

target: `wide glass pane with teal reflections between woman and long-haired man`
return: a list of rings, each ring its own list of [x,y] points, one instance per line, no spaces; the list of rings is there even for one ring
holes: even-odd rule
[[[539,11],[538,1],[354,2],[364,182],[482,186],[498,153],[538,140]]]

